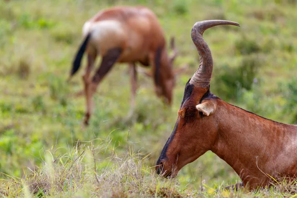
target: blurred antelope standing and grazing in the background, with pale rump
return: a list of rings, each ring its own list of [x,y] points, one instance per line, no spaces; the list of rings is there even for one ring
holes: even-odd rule
[[[118,6],[100,11],[83,26],[84,41],[73,61],[70,78],[81,64],[84,51],[87,51],[88,63],[83,81],[87,100],[87,112],[84,123],[88,124],[93,109],[93,95],[104,76],[115,62],[127,62],[131,75],[131,109],[135,107],[137,89],[137,70],[135,63],[151,65],[155,92],[169,105],[172,100],[175,73],[172,69],[177,55],[174,40],[171,41],[173,55],[169,57],[162,28],[155,14],[146,7]],[[99,69],[90,79],[97,55],[102,56]],[[69,78],[69,79],[70,79]]]

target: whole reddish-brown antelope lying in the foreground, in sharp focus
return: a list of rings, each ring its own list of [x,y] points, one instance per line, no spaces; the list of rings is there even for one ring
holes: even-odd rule
[[[240,26],[224,20],[200,21],[193,26],[191,36],[200,65],[186,84],[175,127],[156,163],[157,174],[174,177],[183,166],[211,150],[240,176],[242,182],[235,188],[269,186],[272,177],[296,178],[297,125],[263,118],[209,91],[213,60],[202,34],[217,25]]]

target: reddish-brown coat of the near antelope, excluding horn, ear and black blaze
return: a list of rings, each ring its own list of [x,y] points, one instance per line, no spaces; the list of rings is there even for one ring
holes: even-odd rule
[[[207,150],[216,153],[240,176],[244,186],[264,187],[271,177],[297,175],[297,125],[278,123],[215,100],[216,111],[201,116],[196,109],[205,91],[195,88],[179,111],[179,124],[169,144],[163,170],[177,172]],[[270,175],[270,176],[269,176]]]

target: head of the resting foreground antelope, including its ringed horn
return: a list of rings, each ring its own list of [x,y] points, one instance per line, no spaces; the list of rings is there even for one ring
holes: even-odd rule
[[[191,37],[200,55],[200,65],[186,84],[175,127],[157,160],[156,172],[163,176],[176,176],[183,166],[210,150],[216,141],[215,111],[220,99],[209,91],[213,60],[202,34],[217,25],[239,26],[232,21],[209,20],[197,22],[192,28]]]

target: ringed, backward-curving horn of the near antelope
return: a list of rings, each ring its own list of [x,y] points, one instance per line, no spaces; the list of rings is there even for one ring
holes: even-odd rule
[[[208,28],[217,25],[240,26],[238,23],[225,20],[208,20],[195,23],[192,28],[191,37],[200,56],[199,68],[190,80],[190,83],[193,84],[195,87],[209,87],[213,61],[211,51],[206,42],[203,40],[202,34]]]

